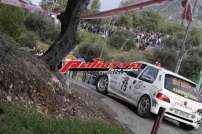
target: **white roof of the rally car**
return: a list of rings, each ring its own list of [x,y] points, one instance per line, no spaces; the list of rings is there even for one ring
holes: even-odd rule
[[[193,82],[193,81],[187,79],[186,77],[181,76],[181,75],[179,75],[179,74],[177,74],[177,73],[174,73],[174,72],[172,72],[172,71],[170,71],[170,70],[167,70],[167,69],[165,69],[165,68],[163,68],[163,67],[159,67],[159,66],[153,65],[153,64],[151,64],[151,63],[145,62],[145,61],[136,61],[136,63],[141,63],[141,64],[146,64],[146,65],[148,65],[148,66],[152,66],[152,67],[154,67],[154,68],[157,68],[157,69],[163,71],[163,72],[166,73],[166,74],[170,74],[170,75],[176,76],[176,77],[178,77],[178,78],[180,78],[180,79],[183,79],[183,80],[185,80],[185,81],[187,81],[187,82],[190,82],[190,83],[196,85],[195,82]]]

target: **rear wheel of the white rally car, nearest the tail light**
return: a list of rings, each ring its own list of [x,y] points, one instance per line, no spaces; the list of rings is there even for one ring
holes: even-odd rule
[[[151,101],[150,97],[147,95],[144,95],[140,98],[138,105],[137,105],[137,114],[140,117],[147,118],[151,115]]]

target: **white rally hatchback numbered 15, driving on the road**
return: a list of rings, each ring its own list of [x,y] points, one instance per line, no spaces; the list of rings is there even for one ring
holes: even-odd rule
[[[165,116],[179,121],[182,128],[199,128],[202,102],[196,84],[164,68],[136,63],[141,64],[139,69],[100,76],[97,90],[135,105],[142,117],[165,108]]]

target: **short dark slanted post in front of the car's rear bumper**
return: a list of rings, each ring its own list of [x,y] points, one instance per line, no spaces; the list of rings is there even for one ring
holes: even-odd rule
[[[157,118],[156,118],[156,120],[154,122],[151,134],[157,134],[158,133],[159,126],[160,126],[160,123],[163,120],[164,114],[165,114],[165,108],[160,108],[158,116],[157,116]]]

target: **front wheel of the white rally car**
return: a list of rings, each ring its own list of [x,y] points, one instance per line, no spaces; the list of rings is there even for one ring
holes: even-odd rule
[[[96,82],[96,89],[98,92],[102,94],[107,94],[108,90],[108,77],[107,76],[100,76]]]

